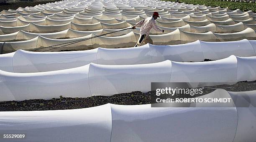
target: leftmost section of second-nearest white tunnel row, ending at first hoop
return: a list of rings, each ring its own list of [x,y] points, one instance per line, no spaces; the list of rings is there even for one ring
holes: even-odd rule
[[[59,97],[60,94],[69,96],[70,91],[76,92],[75,96],[77,97],[91,96],[88,80],[89,66],[45,72],[46,74],[33,73],[33,75],[10,74],[1,71],[0,86],[3,91],[1,98],[3,100],[24,100],[24,98],[41,98],[41,95],[44,94],[44,98],[50,99]],[[20,92],[21,90],[23,93]]]

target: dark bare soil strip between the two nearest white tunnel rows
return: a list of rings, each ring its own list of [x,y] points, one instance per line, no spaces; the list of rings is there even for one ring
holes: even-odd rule
[[[253,82],[239,82],[234,85],[218,85],[212,88],[225,87],[228,91],[250,91],[256,90],[256,81]],[[239,85],[238,85],[239,84]],[[228,87],[228,88],[227,88]],[[205,88],[204,94],[208,94],[215,89]],[[1,101],[0,111],[36,111],[36,110],[59,110],[59,109],[81,109],[93,106],[100,106],[103,104],[122,104],[122,105],[136,105],[136,104],[151,104],[151,94],[154,92],[142,93],[140,91],[133,91],[131,93],[115,94],[113,96],[91,96],[87,98],[69,98],[62,97],[52,98],[50,100],[44,99],[30,99],[24,101]],[[203,94],[202,94],[203,95]],[[191,96],[178,96],[191,97]],[[196,97],[196,96],[193,96]],[[154,97],[152,98],[152,100]]]

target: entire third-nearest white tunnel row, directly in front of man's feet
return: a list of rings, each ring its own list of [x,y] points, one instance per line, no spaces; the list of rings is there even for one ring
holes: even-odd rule
[[[0,55],[0,70],[16,73],[55,71],[84,66],[89,63],[103,65],[129,65],[157,63],[165,60],[189,62],[204,59],[219,60],[230,55],[256,56],[255,41],[246,39],[229,42],[204,42],[156,46],[146,44],[136,48],[96,48],[87,51],[29,52],[19,50]]]

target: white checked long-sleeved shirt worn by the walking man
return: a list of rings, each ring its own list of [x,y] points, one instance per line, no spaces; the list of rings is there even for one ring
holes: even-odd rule
[[[146,34],[146,36],[148,36],[149,35],[149,31],[151,30],[151,28],[154,28],[154,30],[159,31],[159,32],[163,31],[163,30],[160,30],[157,27],[153,16],[145,18],[145,19],[139,21],[134,26],[137,27],[137,26],[140,26],[140,25],[142,25],[141,26],[141,30],[140,30],[140,34],[141,35]]]

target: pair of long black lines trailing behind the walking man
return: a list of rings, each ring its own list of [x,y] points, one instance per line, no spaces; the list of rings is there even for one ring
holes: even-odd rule
[[[132,29],[132,28],[125,28],[123,30],[129,30],[129,29]],[[118,31],[110,32],[110,33],[116,33],[116,32],[120,32],[120,31],[122,31],[122,30],[118,30]],[[78,42],[81,42],[81,41],[86,41],[86,40],[89,40],[89,39],[92,39],[92,38],[97,38],[97,37],[100,37],[100,36],[103,36],[103,35],[108,35],[110,33],[105,33],[105,34],[102,34],[102,35],[96,35],[96,36],[93,36],[93,37],[90,37],[90,38],[84,38],[84,39],[80,39],[80,40],[77,40],[77,41],[70,41],[70,42],[67,42],[67,43],[56,44],[54,46],[60,46],[60,45],[63,45],[63,44],[67,44],[67,45],[64,45],[64,46],[68,46],[68,45],[78,43]],[[70,43],[70,44],[68,44],[68,43]],[[49,48],[49,47],[54,47],[54,46],[41,47],[41,48],[36,48],[36,49],[29,50],[29,51],[36,51],[38,49],[44,49],[44,48]],[[48,49],[48,50],[45,50],[45,51],[49,51],[49,50],[56,49],[56,48],[61,48],[61,47],[64,47],[64,46],[51,48],[51,49]],[[41,52],[45,52],[45,51],[41,51]]]

